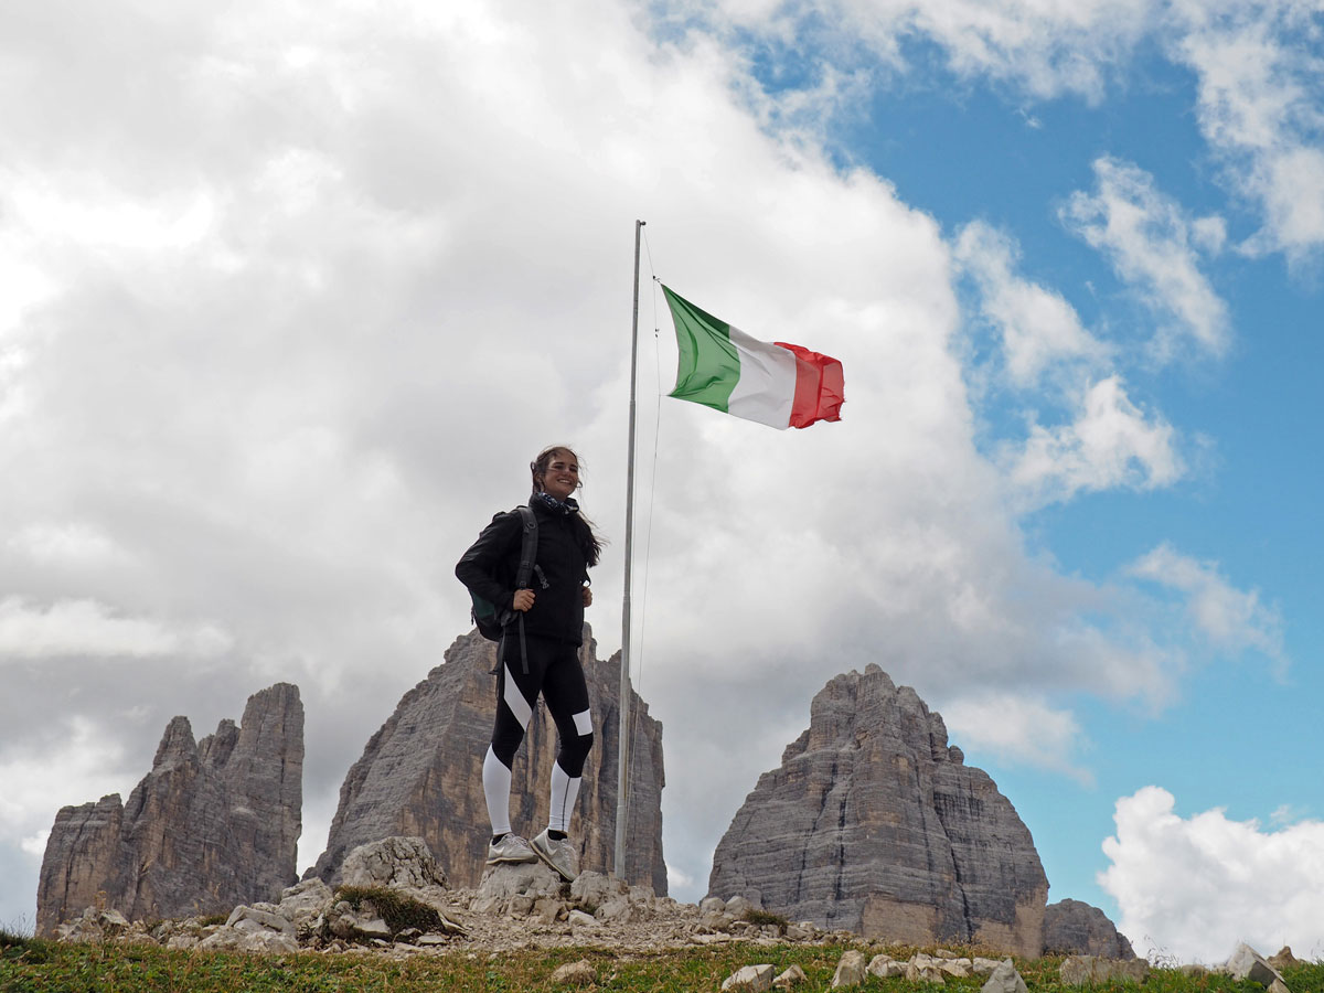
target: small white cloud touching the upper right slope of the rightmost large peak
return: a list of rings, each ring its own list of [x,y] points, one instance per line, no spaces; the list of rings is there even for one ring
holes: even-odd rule
[[[943,719],[952,744],[963,749],[978,748],[1001,761],[1061,772],[1094,785],[1094,773],[1071,761],[1083,739],[1071,711],[1030,695],[982,694],[945,703]]]

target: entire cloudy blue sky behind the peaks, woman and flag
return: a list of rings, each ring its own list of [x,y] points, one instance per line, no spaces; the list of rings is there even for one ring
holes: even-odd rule
[[[1324,955],[1315,0],[0,8],[0,924],[166,723],[307,711],[299,865],[553,442],[671,894],[837,673],[1140,955]],[[665,399],[655,279],[843,363]]]

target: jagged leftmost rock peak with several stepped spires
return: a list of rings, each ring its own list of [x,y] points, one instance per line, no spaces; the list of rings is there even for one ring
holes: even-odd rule
[[[277,683],[249,698],[242,724],[193,741],[175,718],[152,771],[119,794],[56,814],[37,888],[37,933],[85,907],[131,920],[229,911],[278,898],[298,871],[303,704]]]

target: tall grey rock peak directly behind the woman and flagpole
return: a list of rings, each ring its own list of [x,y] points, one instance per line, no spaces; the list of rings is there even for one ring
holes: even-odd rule
[[[495,714],[495,645],[478,632],[457,638],[445,662],[406,692],[396,712],[364,748],[340,786],[327,849],[306,876],[339,883],[346,854],[391,835],[422,838],[446,866],[450,883],[477,887],[487,855],[490,824],[482,764]],[[593,715],[593,751],[571,822],[580,867],[608,871],[616,839],[620,722],[620,654],[597,658],[585,628],[580,650]],[[625,873],[666,894],[662,862],[662,726],[632,691],[630,802]],[[526,837],[547,825],[548,782],[556,757],[556,726],[539,700],[515,757],[511,824]]]

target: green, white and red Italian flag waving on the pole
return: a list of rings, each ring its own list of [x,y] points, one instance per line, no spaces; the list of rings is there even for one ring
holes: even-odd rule
[[[798,344],[760,342],[666,286],[662,293],[681,348],[670,396],[780,429],[841,420],[839,361]]]

